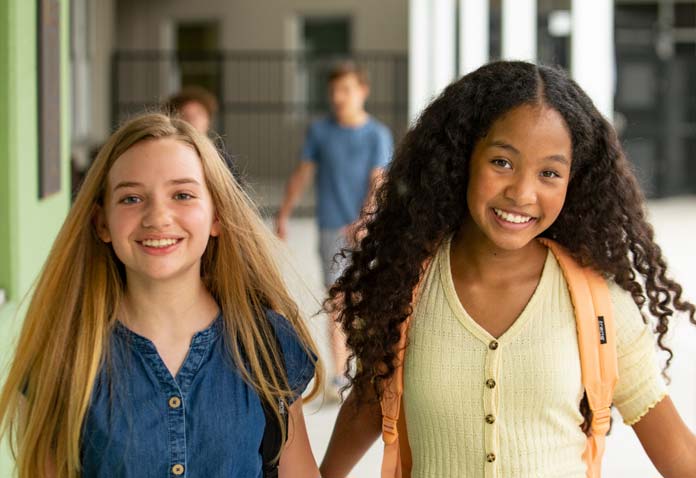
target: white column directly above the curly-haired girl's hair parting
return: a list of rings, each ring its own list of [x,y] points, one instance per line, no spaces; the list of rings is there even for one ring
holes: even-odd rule
[[[537,0],[503,0],[502,7],[502,57],[536,61]]]

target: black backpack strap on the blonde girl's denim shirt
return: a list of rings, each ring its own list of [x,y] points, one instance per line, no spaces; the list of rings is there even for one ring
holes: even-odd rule
[[[278,336],[275,333],[273,324],[269,324],[268,330],[273,336],[272,340],[275,341],[276,350],[280,357],[280,364],[283,367],[282,372],[285,373],[287,367],[285,366],[285,357],[283,356],[283,349],[278,340]],[[264,344],[268,350],[272,350],[267,342],[268,338],[264,337]],[[265,364],[262,364],[263,373],[266,375],[266,379],[270,381],[270,374]],[[276,371],[278,372],[278,371]],[[275,460],[276,456],[280,454],[280,450],[283,446],[283,435],[281,433],[280,424],[273,412],[273,407],[263,398],[261,399],[261,406],[263,407],[263,414],[266,418],[266,427],[263,432],[263,439],[261,440],[261,446],[259,447],[259,453],[261,454],[261,459],[263,461],[263,477],[264,478],[278,478],[278,461]],[[285,422],[285,429],[288,429],[288,409],[284,401],[278,399],[278,406],[281,418]]]

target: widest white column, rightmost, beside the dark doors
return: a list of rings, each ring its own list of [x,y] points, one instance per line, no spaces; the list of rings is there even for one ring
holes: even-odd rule
[[[608,119],[614,116],[613,0],[572,0],[571,73]]]

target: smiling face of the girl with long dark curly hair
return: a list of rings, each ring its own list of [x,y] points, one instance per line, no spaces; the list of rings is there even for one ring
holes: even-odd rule
[[[471,155],[469,240],[507,251],[530,244],[563,208],[571,158],[566,123],[548,106],[519,106],[494,122]]]

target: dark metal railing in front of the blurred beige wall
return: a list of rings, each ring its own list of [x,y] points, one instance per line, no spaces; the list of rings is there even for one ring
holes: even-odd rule
[[[406,54],[361,52],[350,58],[370,76],[367,110],[400,139],[408,125]],[[268,191],[263,206],[273,208],[280,200],[275,184],[297,164],[308,124],[328,112],[326,76],[338,59],[273,51],[117,51],[113,122],[156,110],[182,82],[206,87],[220,105],[216,132],[248,180]]]

